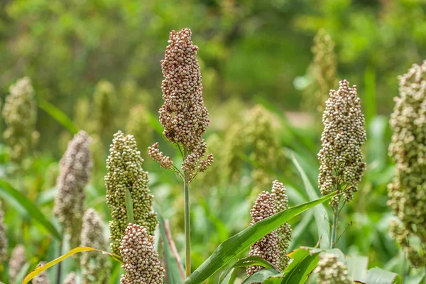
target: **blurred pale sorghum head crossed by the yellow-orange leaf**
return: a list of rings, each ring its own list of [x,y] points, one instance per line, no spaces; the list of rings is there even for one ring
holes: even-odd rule
[[[104,226],[96,210],[89,208],[84,212],[81,246],[90,246],[107,251],[107,242],[104,239]],[[108,283],[109,257],[99,252],[83,253],[81,258],[82,278],[84,284]]]

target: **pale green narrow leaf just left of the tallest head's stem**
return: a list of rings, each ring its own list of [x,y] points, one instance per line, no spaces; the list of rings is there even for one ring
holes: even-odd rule
[[[178,284],[185,281],[185,274],[182,265],[173,255],[170,247],[169,238],[165,232],[165,222],[163,217],[157,212],[158,222],[160,223],[160,234],[163,239],[163,252],[165,261],[166,281],[168,284]]]

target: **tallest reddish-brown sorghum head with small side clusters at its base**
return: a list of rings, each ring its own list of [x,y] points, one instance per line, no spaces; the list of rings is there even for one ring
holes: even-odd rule
[[[182,145],[185,154],[182,170],[192,178],[197,170],[202,172],[213,162],[212,155],[202,160],[207,148],[202,135],[209,126],[209,111],[202,98],[202,77],[196,58],[198,47],[192,44],[189,28],[172,31],[168,43],[161,60],[164,104],[158,113],[165,138]],[[149,153],[163,168],[171,167],[165,163],[170,158],[159,155],[158,145],[149,148]]]

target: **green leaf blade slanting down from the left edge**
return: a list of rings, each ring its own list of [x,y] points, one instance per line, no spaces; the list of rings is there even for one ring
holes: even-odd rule
[[[18,204],[23,207],[23,209],[28,212],[28,217],[31,217],[35,221],[39,222],[41,225],[47,229],[50,234],[55,236],[56,239],[62,240],[62,235],[59,233],[58,229],[53,226],[52,223],[48,221],[48,219],[45,217],[45,215],[38,209],[38,207],[31,202],[31,200],[28,199],[25,195],[23,195],[18,190],[14,189],[11,185],[9,185],[8,182],[5,180],[0,180],[0,190],[2,190],[6,195],[9,195],[9,198],[5,199],[7,200],[14,200]]]

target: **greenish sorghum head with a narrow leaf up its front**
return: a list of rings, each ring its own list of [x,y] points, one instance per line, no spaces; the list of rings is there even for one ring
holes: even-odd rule
[[[124,136],[121,131],[115,133],[107,158],[105,186],[113,219],[109,222],[111,250],[116,254],[119,254],[121,238],[129,224],[125,208],[126,190],[131,193],[135,224],[146,227],[151,235],[158,224],[157,215],[152,209],[153,195],[148,189],[148,173],[143,171],[142,163],[143,158],[133,135]]]

